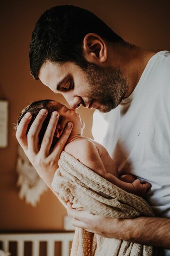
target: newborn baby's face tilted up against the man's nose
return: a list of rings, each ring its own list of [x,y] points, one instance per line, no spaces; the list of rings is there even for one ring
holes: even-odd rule
[[[52,111],[57,111],[59,113],[59,125],[62,130],[68,122],[72,122],[73,130],[81,132],[82,134],[82,131],[85,128],[85,123],[80,115],[76,113],[75,109],[68,109],[68,107],[57,101],[51,101],[50,106],[52,106]]]

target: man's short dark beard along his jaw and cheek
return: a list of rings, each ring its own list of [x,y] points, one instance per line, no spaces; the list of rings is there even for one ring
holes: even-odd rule
[[[85,72],[87,82],[90,85],[88,88],[90,101],[97,100],[100,105],[97,106],[97,109],[102,113],[116,108],[128,89],[127,81],[121,70],[112,67],[101,67],[86,61],[84,64],[81,65],[81,68]]]

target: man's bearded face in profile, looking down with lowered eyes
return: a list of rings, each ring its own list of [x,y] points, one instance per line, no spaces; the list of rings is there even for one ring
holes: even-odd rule
[[[127,81],[120,69],[93,63],[82,69],[72,62],[46,61],[39,79],[54,93],[61,93],[71,108],[83,105],[103,113],[116,108],[127,91]]]

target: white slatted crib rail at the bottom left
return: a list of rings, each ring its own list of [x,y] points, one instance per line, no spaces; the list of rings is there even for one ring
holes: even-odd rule
[[[74,232],[40,234],[0,234],[2,250],[8,252],[9,242],[17,242],[17,256],[24,256],[24,242],[32,242],[32,256],[39,256],[40,242],[47,242],[47,256],[54,256],[55,242],[61,242],[61,256],[69,256],[69,243]]]

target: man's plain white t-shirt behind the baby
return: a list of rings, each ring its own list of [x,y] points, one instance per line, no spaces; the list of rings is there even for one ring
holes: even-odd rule
[[[92,133],[120,173],[152,184],[144,198],[156,216],[170,217],[170,52],[153,55],[135,90],[117,108],[94,111]]]

